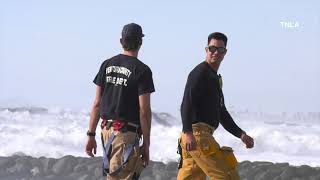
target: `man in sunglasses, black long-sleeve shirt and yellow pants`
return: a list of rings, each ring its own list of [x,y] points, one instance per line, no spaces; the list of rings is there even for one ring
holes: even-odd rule
[[[237,161],[229,147],[220,147],[212,134],[219,123],[240,138],[247,148],[253,139],[240,129],[227,111],[222,79],[217,74],[227,49],[227,37],[212,33],[208,37],[205,62],[189,74],[181,104],[183,133],[180,138],[182,166],[178,179],[239,179]]]

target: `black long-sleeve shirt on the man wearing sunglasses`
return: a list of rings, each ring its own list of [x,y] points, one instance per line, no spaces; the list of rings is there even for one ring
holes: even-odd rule
[[[181,104],[183,132],[192,131],[192,124],[204,122],[214,128],[222,126],[236,137],[242,130],[227,111],[217,75],[209,64],[202,62],[189,74]]]

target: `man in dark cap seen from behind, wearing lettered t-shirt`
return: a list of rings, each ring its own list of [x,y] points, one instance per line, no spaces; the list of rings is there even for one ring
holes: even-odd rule
[[[149,162],[150,94],[155,90],[150,68],[137,59],[142,37],[139,25],[125,25],[120,39],[123,53],[104,61],[93,81],[97,85],[96,97],[86,152],[92,157],[96,153],[94,136],[101,118],[103,173],[108,180],[137,179]]]

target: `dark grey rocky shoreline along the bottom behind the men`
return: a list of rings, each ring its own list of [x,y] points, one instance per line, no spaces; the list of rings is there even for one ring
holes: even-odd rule
[[[150,161],[140,179],[176,179],[177,164]],[[0,156],[0,177],[4,180],[101,180],[104,179],[101,165],[101,157]],[[320,179],[320,167],[292,166],[289,163],[242,161],[238,164],[238,171],[241,179],[247,180]]]

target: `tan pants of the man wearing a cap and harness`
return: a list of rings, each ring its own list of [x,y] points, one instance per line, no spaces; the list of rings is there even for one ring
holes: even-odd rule
[[[134,132],[119,132],[113,131],[111,127],[109,130],[106,128],[102,129],[101,134],[104,142],[107,142],[111,133],[114,133],[116,136],[112,142],[111,146],[111,154],[110,154],[110,172],[114,172],[118,167],[121,166],[123,161],[123,152],[126,144],[133,143],[137,136]],[[107,176],[107,180],[134,180],[138,179],[141,172],[143,170],[142,160],[141,160],[141,152],[139,144],[134,147],[132,154],[129,156],[128,163],[124,166],[124,168],[115,176]]]

